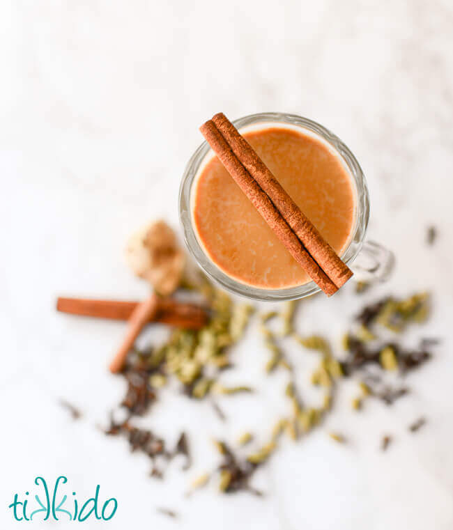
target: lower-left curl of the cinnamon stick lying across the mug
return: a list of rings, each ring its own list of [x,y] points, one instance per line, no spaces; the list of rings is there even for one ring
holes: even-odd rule
[[[303,247],[297,235],[295,235],[289,224],[286,223],[280,212],[275,208],[268,195],[263,192],[258,182],[256,182],[249,171],[241,164],[238,157],[233,153],[213,120],[209,120],[204,125],[201,125],[200,131],[225,169],[227,169],[236,184],[242,189],[247,198],[249,198],[256,210],[258,210],[261,217],[263,217],[275,235],[284,244],[291,256],[293,256],[326,295],[333,295],[338,290],[335,283],[319,267],[318,263],[307,252],[307,249]]]

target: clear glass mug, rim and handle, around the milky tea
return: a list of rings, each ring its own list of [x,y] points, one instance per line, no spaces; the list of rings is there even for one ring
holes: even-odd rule
[[[351,178],[355,183],[356,192],[355,221],[351,242],[341,256],[341,259],[351,267],[356,279],[382,281],[388,276],[388,274],[390,274],[393,265],[392,253],[376,242],[365,241],[369,220],[369,194],[364,174],[353,153],[351,153],[346,145],[336,137],[335,134],[332,134],[332,132],[322,125],[307,118],[302,118],[295,114],[282,114],[279,112],[252,114],[233,121],[233,124],[239,130],[243,130],[245,127],[249,129],[250,127],[261,128],[268,125],[289,124],[291,127],[300,127],[302,130],[305,130],[305,132],[308,130],[311,134],[314,133],[329,143],[351,174]],[[304,298],[314,295],[314,293],[318,293],[320,288],[318,288],[314,281],[309,281],[302,286],[284,289],[263,289],[249,286],[246,283],[240,283],[240,281],[225,274],[209,258],[197,239],[197,234],[192,223],[190,204],[192,186],[194,185],[197,174],[199,173],[209,150],[210,147],[208,146],[208,143],[204,141],[204,143],[202,143],[195,151],[185,168],[179,190],[179,217],[183,226],[185,243],[187,244],[190,254],[192,254],[199,266],[211,279],[220,283],[222,287],[232,293],[247,298],[262,301],[284,301]]]

